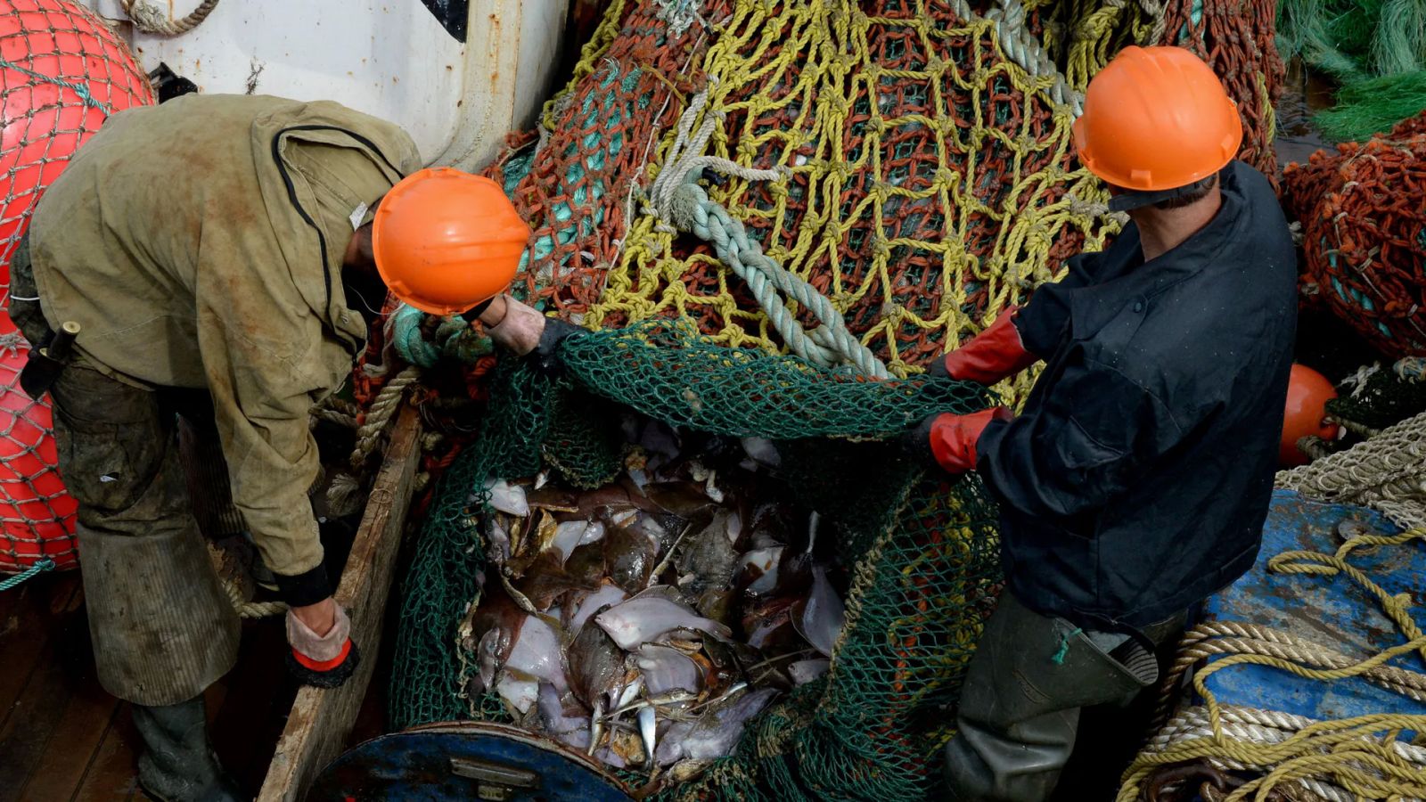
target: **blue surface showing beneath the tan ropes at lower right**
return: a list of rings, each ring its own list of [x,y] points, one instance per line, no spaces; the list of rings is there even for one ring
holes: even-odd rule
[[[1348,519],[1360,521],[1382,534],[1400,531],[1372,509],[1319,504],[1291,491],[1273,494],[1256,565],[1231,588],[1205,602],[1204,619],[1272,626],[1359,659],[1403,644],[1406,636],[1382,614],[1378,601],[1350,578],[1268,572],[1268,559],[1285,551],[1336,551],[1342,544],[1338,525]],[[1412,542],[1362,549],[1353,552],[1349,562],[1389,594],[1406,594],[1412,615],[1419,625],[1426,625],[1426,547]],[[1392,665],[1426,671],[1422,656],[1415,652],[1396,658]],[[1387,711],[1426,714],[1426,704],[1413,702],[1363,679],[1323,682],[1258,665],[1236,665],[1214,674],[1208,689],[1222,704],[1315,719]]]

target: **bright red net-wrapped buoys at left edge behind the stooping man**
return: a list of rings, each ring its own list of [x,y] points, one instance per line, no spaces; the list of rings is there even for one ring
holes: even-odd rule
[[[44,188],[113,111],[153,103],[128,47],[88,9],[0,0],[0,288]],[[40,557],[73,567],[74,499],[56,472],[47,400],[19,385],[27,345],[0,314],[0,572]]]

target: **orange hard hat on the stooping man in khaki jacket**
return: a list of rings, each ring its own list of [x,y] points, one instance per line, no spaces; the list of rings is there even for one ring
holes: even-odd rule
[[[428,167],[381,198],[371,250],[394,295],[424,313],[451,315],[511,285],[529,235],[499,184]]]

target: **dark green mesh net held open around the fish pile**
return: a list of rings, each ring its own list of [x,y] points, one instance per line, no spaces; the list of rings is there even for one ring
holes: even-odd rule
[[[789,799],[924,796],[950,738],[945,711],[998,587],[994,509],[974,478],[920,478],[890,442],[938,411],[985,408],[985,388],[948,380],[866,381],[793,357],[730,351],[690,327],[643,324],[568,340],[563,371],[506,361],[478,441],[436,491],[404,588],[391,712],[396,726],[503,719],[463,692],[456,625],[485,568],[486,479],[530,475],[542,455],[572,482],[619,469],[609,400],[716,435],[786,440],[793,494],[823,501],[856,564],[847,624],[823,682],[800,688],[744,734],[737,752],[667,795]],[[846,465],[847,469],[829,471]],[[834,502],[831,499],[836,499]],[[796,732],[773,725],[806,722]],[[797,792],[801,793],[801,792]]]

